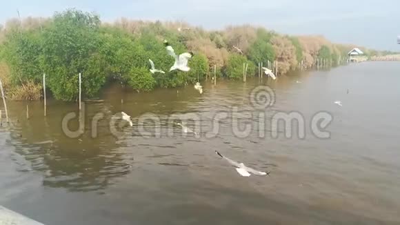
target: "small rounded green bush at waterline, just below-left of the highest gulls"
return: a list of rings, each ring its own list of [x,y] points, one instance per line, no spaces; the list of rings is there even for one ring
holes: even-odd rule
[[[154,88],[156,81],[147,68],[134,67],[129,72],[128,84],[134,90],[149,91]]]

